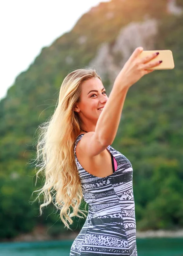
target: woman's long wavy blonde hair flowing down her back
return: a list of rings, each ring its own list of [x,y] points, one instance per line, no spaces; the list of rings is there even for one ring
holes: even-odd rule
[[[39,170],[35,183],[40,172],[43,172],[45,182],[41,189],[34,191],[40,191],[35,201],[41,194],[44,195],[40,215],[42,208],[52,202],[60,210],[61,221],[67,228],[73,223],[72,217],[86,217],[86,211],[79,209],[83,194],[73,151],[82,122],[73,108],[80,100],[81,84],[93,77],[101,80],[96,70],[89,67],[69,73],[61,84],[55,112],[38,127],[35,166]]]

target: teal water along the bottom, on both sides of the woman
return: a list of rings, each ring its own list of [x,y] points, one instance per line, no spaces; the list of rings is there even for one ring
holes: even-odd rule
[[[69,256],[73,241],[3,242],[0,256]],[[138,256],[183,256],[183,238],[137,239]]]

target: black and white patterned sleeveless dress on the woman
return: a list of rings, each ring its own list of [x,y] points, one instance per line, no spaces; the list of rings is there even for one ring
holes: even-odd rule
[[[74,156],[88,215],[70,256],[137,256],[132,165],[109,145],[116,171],[106,177],[91,175],[76,157],[76,146],[83,135],[76,138]]]

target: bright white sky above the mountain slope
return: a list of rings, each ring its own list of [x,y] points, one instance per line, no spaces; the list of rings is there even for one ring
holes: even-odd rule
[[[0,1],[0,99],[27,70],[42,47],[50,46],[91,7],[110,0]]]

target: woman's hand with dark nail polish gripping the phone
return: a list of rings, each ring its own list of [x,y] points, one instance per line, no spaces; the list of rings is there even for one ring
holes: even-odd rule
[[[144,58],[138,58],[142,51],[142,47],[137,47],[134,50],[134,52],[116,77],[114,84],[118,84],[122,87],[131,87],[142,76],[154,71],[147,70],[148,68],[160,65],[160,61],[153,61],[151,63],[148,63],[148,61],[157,56],[156,52]]]

